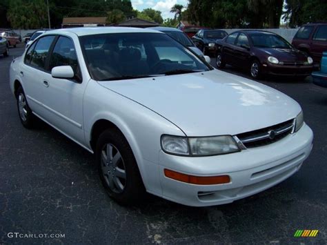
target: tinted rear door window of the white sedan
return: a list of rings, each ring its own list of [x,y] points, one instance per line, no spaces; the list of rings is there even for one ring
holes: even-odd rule
[[[53,40],[54,36],[46,36],[41,37],[39,41],[37,41],[37,45],[32,52],[32,59],[30,61],[32,66],[36,66],[42,70],[45,69],[46,58],[48,57],[48,52]]]

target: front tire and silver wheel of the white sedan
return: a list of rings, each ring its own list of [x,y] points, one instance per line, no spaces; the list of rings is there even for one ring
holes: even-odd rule
[[[119,130],[108,129],[101,133],[95,158],[103,187],[112,199],[123,205],[143,199],[146,189],[137,162]]]

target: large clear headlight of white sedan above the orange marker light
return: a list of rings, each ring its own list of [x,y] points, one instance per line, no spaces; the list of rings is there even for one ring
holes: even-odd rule
[[[213,137],[178,137],[163,135],[161,148],[173,155],[209,156],[235,153],[239,147],[230,135]]]

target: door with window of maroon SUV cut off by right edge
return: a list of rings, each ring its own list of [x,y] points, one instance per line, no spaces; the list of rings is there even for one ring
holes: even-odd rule
[[[318,26],[313,35],[311,55],[313,56],[315,63],[320,62],[322,52],[327,52],[327,25]]]

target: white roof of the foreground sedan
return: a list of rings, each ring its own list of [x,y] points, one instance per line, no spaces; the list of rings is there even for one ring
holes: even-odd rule
[[[139,33],[139,32],[148,32],[148,33],[160,33],[157,30],[150,30],[148,28],[130,28],[130,27],[80,27],[80,28],[64,28],[57,30],[49,30],[47,34],[71,34],[74,33],[77,36],[86,36],[86,35],[97,35],[97,34],[110,34],[110,33]]]

